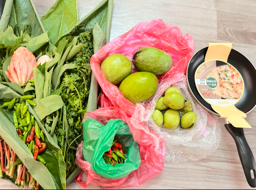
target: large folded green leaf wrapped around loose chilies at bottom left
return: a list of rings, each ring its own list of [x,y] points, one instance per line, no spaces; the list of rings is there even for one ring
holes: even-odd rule
[[[10,100],[12,98],[20,97],[20,95],[9,87],[0,84],[0,97],[1,99]],[[3,104],[3,102],[3,100],[0,100],[0,106]],[[28,168],[28,171],[41,185],[42,188],[65,189],[65,161],[60,148],[53,141],[53,138],[48,134],[44,126],[42,126],[32,107],[28,105],[28,111],[30,114],[35,116],[35,119],[38,122],[41,130],[43,130],[45,133],[45,143],[47,145],[46,151],[40,153],[40,156],[45,159],[46,165],[34,160],[32,153],[26,144],[21,140],[21,138],[19,138],[16,127],[13,125],[13,111],[14,109],[9,111],[6,108],[0,107],[0,134],[2,138],[18,155],[19,159],[25,164],[25,166]],[[6,179],[12,183],[15,181],[14,178],[11,179],[6,175],[3,176],[3,179]]]

